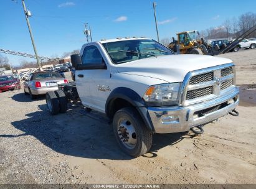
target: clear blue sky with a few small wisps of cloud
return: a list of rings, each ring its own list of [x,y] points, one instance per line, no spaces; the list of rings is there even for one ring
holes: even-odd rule
[[[84,23],[92,40],[116,37],[157,39],[153,1],[146,0],[24,0],[37,52],[44,57],[61,57],[86,43]],[[175,37],[184,30],[204,30],[222,25],[225,19],[255,12],[256,1],[158,0],[156,17],[159,38]],[[0,48],[32,53],[34,50],[21,0],[0,0]],[[2,54],[6,55],[6,54]],[[32,58],[8,55],[12,65]]]

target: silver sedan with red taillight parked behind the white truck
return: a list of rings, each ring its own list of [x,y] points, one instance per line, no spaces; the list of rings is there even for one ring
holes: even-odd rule
[[[24,93],[35,99],[39,94],[58,90],[58,84],[68,83],[60,73],[54,71],[39,71],[31,73],[24,82]]]

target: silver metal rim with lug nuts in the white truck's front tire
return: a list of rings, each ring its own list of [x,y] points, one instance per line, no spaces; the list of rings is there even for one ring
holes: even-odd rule
[[[135,128],[128,119],[121,118],[117,126],[118,137],[128,149],[133,149],[137,143]]]

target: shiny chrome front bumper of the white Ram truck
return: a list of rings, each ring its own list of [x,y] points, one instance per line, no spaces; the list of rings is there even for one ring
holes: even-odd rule
[[[213,109],[220,104],[223,104],[221,108]],[[189,131],[191,127],[204,125],[225,116],[238,104],[239,89],[235,87],[217,99],[190,106],[148,107],[148,114],[154,126],[154,132],[184,132]],[[212,111],[207,112],[211,108]],[[201,111],[204,114],[201,114]]]

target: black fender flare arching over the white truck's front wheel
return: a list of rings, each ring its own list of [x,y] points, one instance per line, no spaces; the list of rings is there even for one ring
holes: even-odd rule
[[[111,91],[105,104],[105,113],[107,114],[108,118],[111,119],[113,117],[113,115],[111,115],[110,110],[111,102],[118,98],[124,99],[125,101],[130,103],[134,108],[136,108],[148,129],[154,131],[154,126],[149,116],[145,101],[143,101],[143,99],[138,93],[131,90],[130,88],[118,87],[115,88],[115,90]]]

